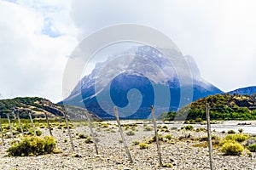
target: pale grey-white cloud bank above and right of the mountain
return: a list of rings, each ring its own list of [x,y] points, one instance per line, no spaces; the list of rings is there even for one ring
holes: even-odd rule
[[[255,85],[256,3],[248,1],[74,1],[79,40],[120,23],[152,26],[194,56],[201,75],[224,91]]]

